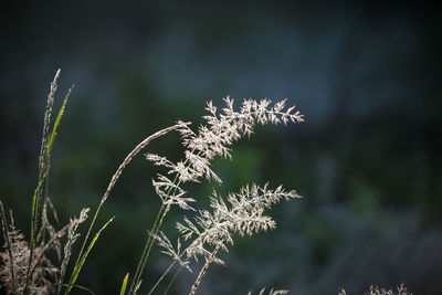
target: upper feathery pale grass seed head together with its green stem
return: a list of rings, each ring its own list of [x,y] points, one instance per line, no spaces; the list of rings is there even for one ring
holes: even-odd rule
[[[231,159],[230,146],[244,136],[250,137],[256,124],[278,125],[287,124],[288,122],[304,122],[304,116],[297,110],[294,112],[294,107],[284,110],[285,101],[272,106],[269,99],[260,102],[244,99],[240,110],[234,109],[234,101],[230,97],[224,98],[224,103],[225,107],[222,108],[221,113],[218,113],[218,108],[212,102],[207,104],[206,109],[210,115],[203,116],[207,125],[201,125],[198,131],[193,131],[188,124],[178,122],[180,125],[178,131],[186,148],[183,160],[173,164],[167,157],[146,154],[147,160],[155,166],[164,166],[169,169],[168,175],[175,175],[173,180],[164,175],[158,175],[157,179],[152,180],[156,193],[160,197],[162,206],[150,233],[158,233],[170,206],[177,204],[180,209],[193,210],[189,203],[196,202],[196,200],[193,198],[185,198],[186,190],[180,185],[189,181],[198,183],[202,178],[209,181],[214,180],[218,183],[222,182],[211,169],[211,160],[215,156]],[[135,272],[129,294],[135,294],[135,286],[140,281],[152,243],[154,239],[149,235]]]

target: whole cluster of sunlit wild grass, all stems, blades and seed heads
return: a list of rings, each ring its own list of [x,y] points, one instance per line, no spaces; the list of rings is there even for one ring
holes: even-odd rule
[[[14,226],[12,212],[9,221],[4,208],[0,201],[0,220],[4,240],[4,250],[0,252],[0,280],[7,294],[70,294],[73,288],[78,288],[94,294],[90,288],[77,285],[76,281],[86,260],[94,249],[104,230],[114,221],[115,217],[95,231],[97,217],[102,207],[108,200],[115,183],[118,181],[125,168],[143,151],[152,140],[164,135],[176,131],[180,138],[185,152],[181,160],[173,162],[167,157],[151,152],[145,154],[146,159],[154,166],[160,166],[168,170],[166,175],[158,173],[152,179],[156,194],[161,201],[157,218],[148,231],[145,245],[138,260],[137,268],[130,280],[129,295],[139,291],[145,268],[152,251],[155,242],[160,247],[160,254],[171,259],[169,267],[159,280],[150,287],[149,295],[158,291],[168,281],[168,274],[175,270],[173,276],[164,294],[171,288],[176,276],[181,270],[193,273],[194,283],[189,291],[190,295],[198,292],[200,283],[213,263],[225,263],[218,256],[219,252],[228,252],[233,246],[234,239],[252,235],[257,232],[273,230],[275,221],[267,214],[273,204],[281,201],[291,201],[301,198],[295,190],[286,190],[283,186],[274,189],[269,183],[244,185],[238,192],[231,192],[227,197],[218,194],[215,190],[209,197],[209,208],[200,208],[202,202],[187,196],[187,186],[191,182],[208,181],[221,185],[222,179],[212,169],[212,160],[217,157],[232,159],[231,149],[234,143],[243,137],[254,134],[259,125],[288,125],[304,122],[304,116],[294,106],[286,106],[286,99],[272,103],[270,99],[243,99],[235,106],[234,99],[225,97],[224,106],[218,108],[212,102],[206,106],[207,115],[204,124],[197,129],[191,128],[191,123],[178,120],[141,140],[124,158],[99,199],[87,232],[83,239],[72,273],[67,283],[64,282],[66,270],[72,256],[72,246],[78,239],[77,229],[88,217],[90,209],[83,209],[77,218],[70,220],[64,226],[60,226],[55,209],[48,197],[49,177],[51,167],[51,151],[55,144],[62,117],[65,113],[67,101],[72,94],[72,86],[64,96],[63,104],[57,112],[51,129],[52,108],[61,75],[59,70],[50,86],[46,98],[46,108],[43,119],[42,143],[39,155],[38,185],[32,196],[31,203],[31,230],[29,242]],[[182,221],[177,223],[178,240],[172,243],[167,233],[161,231],[161,225],[171,208],[180,210]],[[48,210],[52,209],[53,219],[57,224],[52,224]],[[187,217],[192,212],[192,218]],[[66,239],[63,239],[66,236]],[[53,256],[59,260],[54,262]],[[191,263],[194,261],[196,263]],[[198,267],[201,261],[202,266]],[[129,283],[129,273],[123,280],[120,295],[126,294]],[[260,291],[263,295],[265,289]],[[287,294],[285,289],[271,289],[270,295]],[[249,293],[251,294],[251,293]],[[345,294],[345,291],[341,292]],[[370,287],[368,295],[393,295],[391,291]],[[408,295],[407,288],[401,285],[398,294]]]

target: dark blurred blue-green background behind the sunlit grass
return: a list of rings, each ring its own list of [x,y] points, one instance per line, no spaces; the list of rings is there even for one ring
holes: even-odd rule
[[[0,198],[28,232],[45,96],[75,84],[53,154],[50,196],[61,219],[96,208],[125,155],[204,102],[282,99],[306,123],[256,128],[218,159],[221,193],[248,182],[295,188],[277,230],[236,239],[200,294],[263,286],[291,294],[362,294],[406,282],[441,294],[441,27],[433,7],[371,1],[15,1],[1,10]],[[180,159],[179,139],[149,147]],[[78,278],[116,294],[134,272],[159,208],[155,169],[138,156],[103,211],[115,222]],[[213,183],[190,187],[204,208]],[[176,236],[170,215],[165,230]],[[158,250],[158,249],[157,249]],[[149,261],[141,291],[168,260]],[[172,294],[196,274],[180,273]]]

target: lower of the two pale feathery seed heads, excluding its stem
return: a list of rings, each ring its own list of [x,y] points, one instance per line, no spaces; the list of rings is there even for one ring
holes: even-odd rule
[[[281,186],[275,190],[267,187],[245,186],[236,193],[229,193],[227,202],[213,192],[211,212],[200,210],[194,222],[189,219],[185,219],[186,224],[178,222],[177,229],[185,240],[196,236],[187,249],[188,256],[197,260],[198,255],[210,253],[204,245],[219,244],[227,251],[227,244],[233,244],[233,233],[252,235],[253,232],[274,229],[276,224],[272,218],[264,215],[264,209],[299,196],[294,190],[285,191]]]

